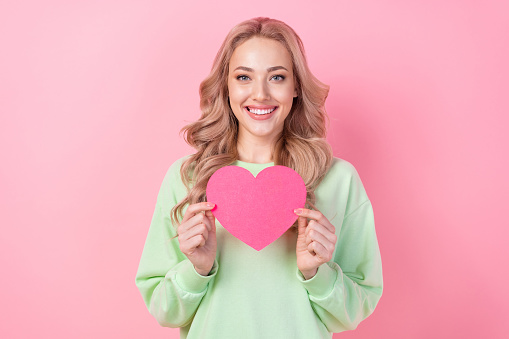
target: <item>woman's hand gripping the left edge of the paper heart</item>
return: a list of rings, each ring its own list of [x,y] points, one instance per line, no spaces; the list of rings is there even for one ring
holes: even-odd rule
[[[189,205],[177,228],[180,250],[201,275],[210,273],[216,259],[216,218],[210,211],[214,206],[207,202]]]

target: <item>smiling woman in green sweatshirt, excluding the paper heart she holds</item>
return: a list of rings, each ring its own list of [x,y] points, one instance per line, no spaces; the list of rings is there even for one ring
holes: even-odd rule
[[[373,210],[324,139],[327,93],[283,22],[255,18],[228,34],[200,86],[202,116],[184,128],[197,152],[163,180],[136,276],[160,325],[188,339],[331,338],[374,311]],[[259,252],[216,223],[206,200],[209,178],[228,165],[255,176],[284,165],[306,184],[296,225]]]

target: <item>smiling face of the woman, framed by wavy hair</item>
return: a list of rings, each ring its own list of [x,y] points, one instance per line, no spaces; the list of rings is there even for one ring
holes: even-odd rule
[[[245,41],[230,59],[228,93],[239,139],[274,141],[297,96],[290,53],[272,39]]]

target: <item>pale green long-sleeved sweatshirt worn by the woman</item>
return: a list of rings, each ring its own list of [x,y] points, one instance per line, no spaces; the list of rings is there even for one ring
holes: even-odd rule
[[[161,326],[180,327],[187,339],[331,338],[352,330],[382,295],[382,263],[373,209],[355,168],[334,158],[315,190],[317,209],[336,227],[333,260],[304,280],[297,268],[292,229],[261,251],[216,221],[217,256],[208,276],[180,251],[170,222],[186,196],[184,158],[168,170],[141,256],[136,285]],[[257,175],[269,164],[237,161]]]

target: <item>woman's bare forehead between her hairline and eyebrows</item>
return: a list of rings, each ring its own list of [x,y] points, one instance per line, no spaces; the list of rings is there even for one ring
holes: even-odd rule
[[[254,37],[244,41],[233,51],[230,70],[239,66],[266,71],[269,67],[283,66],[292,71],[292,58],[282,43],[276,40]]]

